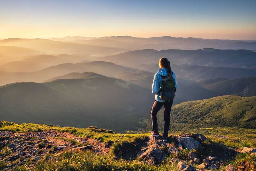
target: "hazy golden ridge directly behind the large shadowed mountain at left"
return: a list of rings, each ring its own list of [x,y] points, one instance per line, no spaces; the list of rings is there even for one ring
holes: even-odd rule
[[[56,76],[69,74],[70,72],[96,72],[105,76],[118,78],[119,74],[129,71],[135,71],[135,69],[104,61],[76,64],[63,63],[37,72],[0,72],[0,85],[13,82],[43,82]]]

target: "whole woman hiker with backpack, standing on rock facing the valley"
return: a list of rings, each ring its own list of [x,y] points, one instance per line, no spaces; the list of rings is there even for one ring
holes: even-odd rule
[[[177,81],[175,73],[172,72],[170,61],[162,57],[159,59],[159,68],[154,76],[152,93],[155,94],[155,102],[151,110],[152,132],[151,136],[159,136],[157,125],[157,112],[164,106],[164,132],[163,141],[167,141],[170,128],[170,113],[173,99],[176,95]]]

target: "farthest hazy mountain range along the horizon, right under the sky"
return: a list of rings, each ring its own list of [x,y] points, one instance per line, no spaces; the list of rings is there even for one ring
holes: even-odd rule
[[[111,37],[64,37],[61,39],[51,39],[60,41],[74,41],[82,44],[95,43],[99,46],[120,47],[129,50],[137,49],[201,49],[201,48],[215,48],[215,49],[248,49],[256,50],[255,41],[241,41],[241,40],[226,40],[226,39],[199,39],[194,37],[131,37],[131,36],[111,36]]]

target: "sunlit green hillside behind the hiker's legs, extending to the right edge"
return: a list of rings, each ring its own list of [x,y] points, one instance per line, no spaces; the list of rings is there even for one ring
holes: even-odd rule
[[[171,128],[185,130],[190,128],[240,127],[256,128],[256,97],[235,95],[219,96],[211,99],[183,102],[173,106]],[[149,129],[151,121],[142,119],[141,127]],[[158,114],[158,127],[163,129],[164,114]]]

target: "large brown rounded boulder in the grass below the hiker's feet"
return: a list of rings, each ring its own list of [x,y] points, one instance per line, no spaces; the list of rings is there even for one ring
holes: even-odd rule
[[[164,160],[165,157],[166,154],[159,148],[150,148],[139,156],[139,158],[143,159],[149,164],[159,164]]]

